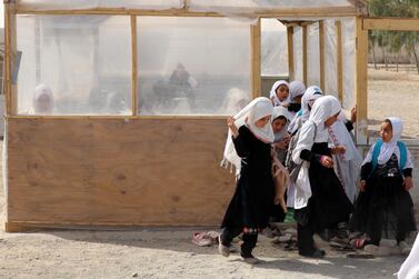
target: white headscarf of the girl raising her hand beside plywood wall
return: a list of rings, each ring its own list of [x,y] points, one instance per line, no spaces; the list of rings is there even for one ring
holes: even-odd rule
[[[259,97],[252,100],[248,106],[240,110],[233,118],[236,119],[235,123],[239,129],[241,126],[246,124],[249,130],[263,142],[273,142],[275,136],[272,131],[272,126],[269,123],[266,124],[262,129],[255,126],[255,122],[259,119],[272,116],[273,106],[272,102],[266,97]],[[240,175],[241,169],[241,158],[237,155],[235,145],[231,139],[231,131],[229,129],[223,159],[221,161],[221,167],[228,167],[231,163],[236,167],[236,175]]]

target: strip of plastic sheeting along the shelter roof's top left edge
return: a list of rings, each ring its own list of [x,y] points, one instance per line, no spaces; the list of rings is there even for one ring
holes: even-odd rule
[[[18,0],[17,7],[31,10],[82,10],[100,8],[121,9],[179,9],[183,0]]]

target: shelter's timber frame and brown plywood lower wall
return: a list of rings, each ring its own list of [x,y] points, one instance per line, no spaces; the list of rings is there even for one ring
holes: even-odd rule
[[[215,226],[219,223],[235,188],[235,178],[219,167],[227,136],[225,116],[141,116],[137,92],[138,21],[141,17],[226,18],[220,9],[197,9],[194,1],[170,9],[80,8],[57,9],[6,1],[7,134],[4,139],[6,230],[30,227],[76,226]],[[46,1],[51,2],[51,1]],[[198,1],[199,2],[199,1]],[[204,7],[203,7],[204,8]],[[260,18],[283,19],[288,38],[307,22],[319,23],[320,83],[325,84],[322,19],[352,18],[357,28],[356,96],[360,122],[366,121],[367,32],[365,1],[347,7],[251,9],[238,17],[256,19],[249,24],[252,97],[261,96]],[[122,16],[130,20],[131,114],[32,116],[18,111],[18,86],[13,82],[20,16]],[[336,21],[341,49],[340,21]],[[340,39],[339,39],[340,38]],[[296,54],[288,40],[290,76]],[[303,74],[307,81],[307,37],[303,39]],[[343,98],[342,51],[338,51],[338,96]],[[38,73],[37,73],[38,76]],[[361,103],[360,103],[361,102]],[[365,102],[366,103],[366,102]],[[362,126],[358,139],[363,140]]]

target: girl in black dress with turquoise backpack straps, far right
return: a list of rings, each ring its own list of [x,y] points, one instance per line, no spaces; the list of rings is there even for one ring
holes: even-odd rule
[[[362,162],[352,226],[357,231],[367,233],[368,238],[353,239],[355,248],[372,245],[378,249],[382,230],[388,231],[392,226],[400,251],[408,253],[410,250],[405,239],[409,231],[416,230],[413,202],[409,193],[413,187],[413,163],[409,150],[399,141],[401,132],[399,118],[386,119],[381,123],[381,138],[371,146]]]

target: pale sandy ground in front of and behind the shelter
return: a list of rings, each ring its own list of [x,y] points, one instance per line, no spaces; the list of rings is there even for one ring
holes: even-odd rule
[[[370,74],[369,117],[378,120],[393,112],[407,120],[407,134],[418,138],[419,110],[415,106],[419,106],[419,76],[396,73],[395,78],[381,71]],[[389,78],[393,80],[385,80]],[[419,161],[419,152],[413,153]],[[412,192],[417,205],[418,188]],[[2,192],[0,202],[3,208]],[[216,247],[193,246],[193,231],[0,231],[0,278],[395,278],[393,272],[405,259],[348,259],[346,253],[332,251],[325,243],[320,246],[328,249],[327,258],[305,259],[295,251],[275,247],[261,236],[255,255],[262,262],[249,266],[237,255],[219,256]]]

